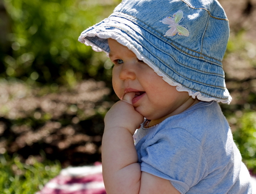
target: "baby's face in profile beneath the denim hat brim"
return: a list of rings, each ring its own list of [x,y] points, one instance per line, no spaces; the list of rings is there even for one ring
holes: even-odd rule
[[[108,44],[109,58],[114,63],[114,91],[120,99],[128,92],[135,92],[133,106],[144,117],[161,122],[183,112],[184,106],[188,108],[188,102],[193,102],[187,92],[178,92],[126,46],[114,39],[108,39]]]

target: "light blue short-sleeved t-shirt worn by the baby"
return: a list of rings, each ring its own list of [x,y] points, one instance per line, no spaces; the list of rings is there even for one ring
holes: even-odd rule
[[[141,171],[168,179],[181,193],[252,193],[217,102],[199,102],[153,127],[146,123],[134,134]]]

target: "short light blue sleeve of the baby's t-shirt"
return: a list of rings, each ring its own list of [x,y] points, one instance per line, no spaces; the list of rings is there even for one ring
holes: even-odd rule
[[[158,131],[140,149],[141,171],[168,179],[181,193],[207,176],[202,143],[185,129]]]

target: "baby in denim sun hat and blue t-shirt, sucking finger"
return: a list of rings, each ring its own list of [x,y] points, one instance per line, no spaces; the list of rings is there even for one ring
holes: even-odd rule
[[[105,117],[112,193],[252,193],[218,102],[229,23],[216,0],[123,0],[79,41],[113,62],[120,101]],[[136,130],[137,129],[137,130]]]

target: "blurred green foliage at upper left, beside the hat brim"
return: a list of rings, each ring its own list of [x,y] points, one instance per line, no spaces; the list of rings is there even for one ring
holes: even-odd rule
[[[109,79],[109,72],[103,67],[106,57],[95,54],[98,60],[92,61],[94,52],[79,43],[78,37],[88,26],[107,17],[118,2],[4,0],[12,22],[6,37],[11,50],[0,54],[4,64],[0,76],[29,84],[37,81],[73,85],[88,77]]]

